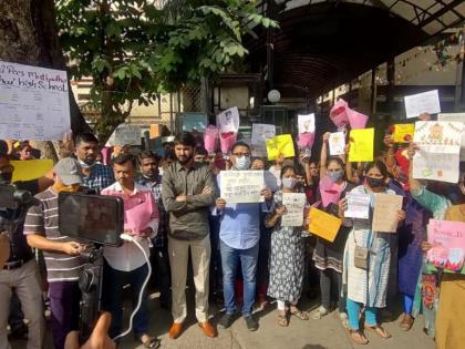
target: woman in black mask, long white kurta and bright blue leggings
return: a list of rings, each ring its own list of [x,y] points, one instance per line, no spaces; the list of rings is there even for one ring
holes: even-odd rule
[[[366,345],[368,339],[360,330],[360,310],[364,307],[365,322],[364,329],[382,338],[390,338],[389,335],[378,322],[376,309],[385,307],[388,294],[388,280],[390,270],[390,233],[373,232],[372,209],[374,206],[374,195],[376,193],[395,195],[386,187],[388,170],[383,162],[375,161],[365,167],[365,181],[351,193],[370,195],[370,218],[369,219],[345,219],[345,226],[352,226],[345,243],[343,263],[343,284],[347,286],[348,299],[347,310],[349,315],[350,333],[353,341],[358,345]],[[344,217],[348,208],[347,199],[339,202],[339,216]],[[401,223],[405,218],[403,211],[397,212],[397,220]],[[355,253],[368,252],[368,256],[359,256]],[[362,261],[362,263],[360,263]],[[364,263],[364,266],[361,264]]]

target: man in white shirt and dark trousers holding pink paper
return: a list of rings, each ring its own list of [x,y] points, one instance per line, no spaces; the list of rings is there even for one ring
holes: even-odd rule
[[[118,196],[124,202],[124,228],[125,233],[133,235],[140,240],[147,256],[149,256],[149,238],[158,230],[158,207],[152,193],[143,185],[135,183],[134,174],[136,158],[132,154],[120,154],[113,160],[113,171],[116,183],[102,191],[103,195]],[[144,209],[138,209],[145,205]],[[134,209],[138,209],[137,218]],[[135,220],[135,222],[134,222]],[[142,222],[146,222],[143,226]],[[112,338],[122,331],[123,318],[123,287],[131,285],[133,305],[138,300],[142,286],[147,277],[148,268],[144,254],[132,242],[125,242],[121,247],[105,246],[105,264],[103,269],[103,308],[112,314],[110,335]],[[158,348],[159,341],[147,335],[148,311],[146,292],[140,310],[134,318],[134,337],[146,348]]]

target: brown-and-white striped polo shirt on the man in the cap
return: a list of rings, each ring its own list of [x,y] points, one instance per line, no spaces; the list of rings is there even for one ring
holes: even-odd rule
[[[58,195],[49,187],[45,192],[35,195],[40,205],[28,211],[24,223],[24,234],[39,234],[49,240],[60,243],[72,242],[68,236],[62,236],[59,230]],[[44,250],[46,266],[46,280],[76,281],[84,260],[80,256],[70,256],[59,252]]]

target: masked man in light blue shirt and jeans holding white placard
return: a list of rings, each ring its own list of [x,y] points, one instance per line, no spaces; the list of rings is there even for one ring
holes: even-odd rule
[[[259,219],[261,212],[268,209],[262,202],[271,201],[272,193],[265,188],[262,171],[249,171],[250,147],[246,143],[232,145],[231,162],[232,170],[223,172],[218,176],[220,197],[216,201],[214,212],[220,216],[219,238],[226,307],[226,314],[219,320],[219,326],[228,328],[235,320],[235,281],[240,263],[244,277],[242,316],[247,328],[255,331],[258,329],[258,322],[251,316],[251,308],[256,292]],[[245,178],[235,181],[235,177],[239,176]]]

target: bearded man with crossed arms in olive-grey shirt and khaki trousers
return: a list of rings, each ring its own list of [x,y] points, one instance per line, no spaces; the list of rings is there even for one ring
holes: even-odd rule
[[[215,183],[208,166],[194,162],[195,137],[175,137],[177,161],[163,175],[162,197],[169,213],[168,253],[172,266],[173,319],[169,338],[179,337],[187,316],[186,277],[190,249],[196,288],[196,317],[205,336],[216,337],[208,322],[210,239],[208,213],[215,203]]]

